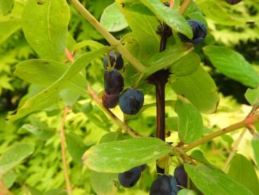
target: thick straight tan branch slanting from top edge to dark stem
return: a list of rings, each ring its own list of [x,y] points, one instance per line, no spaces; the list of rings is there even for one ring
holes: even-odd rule
[[[105,27],[102,27],[102,25],[96,20],[91,13],[84,8],[84,6],[78,1],[78,0],[69,0],[71,4],[74,6],[74,8],[81,13],[81,15],[86,18],[86,20],[95,27],[95,30],[97,30],[100,34],[102,34],[102,37],[105,37],[107,42],[109,42],[110,45],[114,46],[119,53],[124,56],[124,58],[127,59],[127,61],[133,65],[135,69],[137,69],[140,73],[144,73],[146,68],[140,61],[138,61],[135,56],[133,56],[122,44],[119,42],[119,40],[115,39],[115,37],[110,34]]]

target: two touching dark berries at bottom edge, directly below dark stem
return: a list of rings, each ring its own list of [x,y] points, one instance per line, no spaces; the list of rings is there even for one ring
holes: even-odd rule
[[[150,195],[176,195],[180,187],[187,188],[187,175],[182,166],[175,168],[174,176],[160,175],[154,180]]]

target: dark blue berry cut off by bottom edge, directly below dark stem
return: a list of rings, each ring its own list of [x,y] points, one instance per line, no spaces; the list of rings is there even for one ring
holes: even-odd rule
[[[154,180],[150,189],[150,195],[176,195],[179,191],[175,177],[161,175]]]

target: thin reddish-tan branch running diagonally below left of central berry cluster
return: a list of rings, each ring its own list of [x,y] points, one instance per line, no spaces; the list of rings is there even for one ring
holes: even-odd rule
[[[91,87],[88,85],[87,87],[87,91],[88,94],[94,99],[94,101],[98,104],[98,106],[100,106],[100,108],[102,108],[102,111],[105,111],[105,113],[107,113],[107,115],[109,115],[109,117],[117,124],[119,125],[119,127],[121,127],[121,129],[126,130],[126,132],[128,132],[128,134],[130,134],[132,137],[139,137],[140,134],[138,134],[138,132],[135,132],[134,130],[131,129],[131,127],[129,127],[125,122],[122,122],[121,120],[119,120],[119,118],[117,118],[116,115],[114,115],[114,113],[112,113],[111,111],[109,111],[108,108],[105,108],[105,106],[103,106],[102,101],[100,100],[100,98],[98,97],[98,94],[96,94],[95,92],[93,92],[93,90],[91,89]]]

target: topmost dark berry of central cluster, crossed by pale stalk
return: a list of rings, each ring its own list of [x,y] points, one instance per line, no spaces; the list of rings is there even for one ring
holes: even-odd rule
[[[115,51],[112,50],[109,52],[109,61],[112,65],[113,68],[116,68],[117,70],[121,70],[121,68],[124,67],[124,59],[121,57],[121,54],[119,54],[119,52],[116,52],[116,56],[115,56]],[[105,70],[108,67],[108,59],[107,56],[105,56],[105,58],[103,59],[103,68],[105,68]]]

